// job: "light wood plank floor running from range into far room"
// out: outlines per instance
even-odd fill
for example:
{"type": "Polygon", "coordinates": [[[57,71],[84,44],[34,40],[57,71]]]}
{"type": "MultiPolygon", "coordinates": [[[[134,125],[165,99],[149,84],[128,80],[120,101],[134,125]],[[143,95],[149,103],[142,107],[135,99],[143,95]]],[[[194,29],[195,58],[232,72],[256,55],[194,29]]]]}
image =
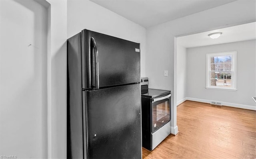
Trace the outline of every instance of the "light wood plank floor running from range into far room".
{"type": "Polygon", "coordinates": [[[179,133],[143,159],[256,159],[256,111],[186,101],[177,107],[179,133]]]}

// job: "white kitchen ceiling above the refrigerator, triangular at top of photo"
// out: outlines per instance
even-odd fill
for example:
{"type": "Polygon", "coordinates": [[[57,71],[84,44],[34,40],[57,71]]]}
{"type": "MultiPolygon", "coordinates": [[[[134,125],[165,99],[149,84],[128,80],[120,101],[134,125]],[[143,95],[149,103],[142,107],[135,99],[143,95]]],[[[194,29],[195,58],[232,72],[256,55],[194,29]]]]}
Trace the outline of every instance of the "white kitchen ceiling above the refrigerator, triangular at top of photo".
{"type": "Polygon", "coordinates": [[[145,28],[235,0],[90,0],[145,28]]]}

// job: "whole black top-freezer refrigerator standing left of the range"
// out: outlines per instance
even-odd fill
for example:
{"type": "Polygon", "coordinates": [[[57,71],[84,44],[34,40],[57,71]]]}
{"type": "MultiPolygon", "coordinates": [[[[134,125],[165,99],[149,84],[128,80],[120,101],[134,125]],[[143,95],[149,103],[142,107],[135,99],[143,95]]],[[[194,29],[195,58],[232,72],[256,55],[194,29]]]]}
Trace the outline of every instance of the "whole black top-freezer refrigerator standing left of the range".
{"type": "Polygon", "coordinates": [[[84,29],[67,45],[67,158],[142,158],[140,43],[84,29]]]}

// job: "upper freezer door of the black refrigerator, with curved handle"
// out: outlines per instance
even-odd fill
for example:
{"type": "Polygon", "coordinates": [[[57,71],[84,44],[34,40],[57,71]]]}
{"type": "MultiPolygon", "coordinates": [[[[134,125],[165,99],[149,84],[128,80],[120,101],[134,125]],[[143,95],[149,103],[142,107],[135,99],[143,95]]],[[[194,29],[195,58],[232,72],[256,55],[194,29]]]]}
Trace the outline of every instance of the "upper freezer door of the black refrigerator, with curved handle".
{"type": "Polygon", "coordinates": [[[82,86],[99,89],[140,82],[140,44],[84,29],[82,86]]]}

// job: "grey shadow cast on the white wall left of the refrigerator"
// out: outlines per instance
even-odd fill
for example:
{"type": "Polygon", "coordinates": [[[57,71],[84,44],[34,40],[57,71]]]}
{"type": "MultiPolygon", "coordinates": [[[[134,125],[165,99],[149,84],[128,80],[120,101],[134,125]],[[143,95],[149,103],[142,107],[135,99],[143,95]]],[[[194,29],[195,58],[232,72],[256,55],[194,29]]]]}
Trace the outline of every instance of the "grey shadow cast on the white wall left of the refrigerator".
{"type": "MultiPolygon", "coordinates": [[[[66,42],[56,51],[52,57],[52,132],[56,136],[52,138],[57,142],[63,143],[67,138],[67,47],[66,42]],[[54,119],[53,119],[54,118],[54,119]]],[[[54,135],[52,134],[52,135],[54,135]]],[[[66,152],[65,145],[54,145],[56,152],[66,152]]],[[[59,154],[63,155],[63,154],[59,154]]],[[[64,154],[66,155],[66,153],[64,154]]],[[[54,156],[52,156],[54,158],[54,156]]],[[[66,158],[65,156],[63,156],[66,158]]]]}

